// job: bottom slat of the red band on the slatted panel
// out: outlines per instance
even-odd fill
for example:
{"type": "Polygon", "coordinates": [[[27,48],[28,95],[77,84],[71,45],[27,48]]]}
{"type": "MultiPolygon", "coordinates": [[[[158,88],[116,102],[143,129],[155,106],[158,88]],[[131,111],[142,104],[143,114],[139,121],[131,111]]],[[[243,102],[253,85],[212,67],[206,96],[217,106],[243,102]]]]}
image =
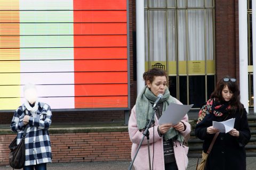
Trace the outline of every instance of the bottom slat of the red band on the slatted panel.
{"type": "Polygon", "coordinates": [[[128,107],[127,96],[75,97],[75,108],[128,107]]]}

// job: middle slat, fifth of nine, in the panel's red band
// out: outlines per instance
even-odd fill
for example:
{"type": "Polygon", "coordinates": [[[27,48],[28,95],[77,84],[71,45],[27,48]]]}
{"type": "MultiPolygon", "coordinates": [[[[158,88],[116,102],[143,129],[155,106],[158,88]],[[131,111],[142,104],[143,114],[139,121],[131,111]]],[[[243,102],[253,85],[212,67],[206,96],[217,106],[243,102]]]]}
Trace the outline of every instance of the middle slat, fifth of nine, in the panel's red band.
{"type": "Polygon", "coordinates": [[[75,59],[127,58],[127,47],[75,48],[75,59]]]}

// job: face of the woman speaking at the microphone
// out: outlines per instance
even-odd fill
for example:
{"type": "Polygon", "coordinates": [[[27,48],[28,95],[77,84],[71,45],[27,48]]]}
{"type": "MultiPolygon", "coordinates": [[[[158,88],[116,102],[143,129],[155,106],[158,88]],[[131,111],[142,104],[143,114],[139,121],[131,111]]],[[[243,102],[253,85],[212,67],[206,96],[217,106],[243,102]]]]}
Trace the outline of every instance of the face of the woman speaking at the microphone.
{"type": "Polygon", "coordinates": [[[147,81],[147,86],[148,88],[150,88],[155,96],[158,96],[159,94],[163,95],[167,86],[166,77],[155,76],[152,83],[150,83],[149,80],[147,81]]]}

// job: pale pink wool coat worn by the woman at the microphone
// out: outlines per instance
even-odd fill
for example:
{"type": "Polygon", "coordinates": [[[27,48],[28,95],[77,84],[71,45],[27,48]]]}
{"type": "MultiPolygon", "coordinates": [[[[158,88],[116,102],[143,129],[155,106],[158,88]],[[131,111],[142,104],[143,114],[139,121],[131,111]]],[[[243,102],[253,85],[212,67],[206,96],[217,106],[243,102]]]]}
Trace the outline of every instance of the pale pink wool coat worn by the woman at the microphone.
{"type": "MultiPolygon", "coordinates": [[[[179,100],[177,100],[178,104],[181,104],[179,100]]],[[[149,128],[149,147],[150,147],[150,160],[151,160],[151,168],[154,166],[155,170],[164,170],[164,149],[163,149],[163,138],[159,136],[157,132],[158,120],[155,116],[155,126],[149,128]],[[153,136],[155,137],[155,152],[154,152],[154,165],[153,164],[153,136]]],[[[188,123],[188,116],[186,115],[181,120],[186,126],[186,130],[181,132],[181,134],[185,137],[187,134],[190,133],[190,124],[188,123]]],[[[135,113],[135,106],[132,108],[131,116],[129,119],[128,124],[129,135],[132,141],[132,152],[131,158],[134,157],[136,154],[137,148],[139,143],[142,139],[142,132],[139,131],[137,128],[137,120],[136,120],[136,113],[135,113]]],[[[188,165],[188,147],[180,145],[179,142],[176,142],[176,146],[174,148],[174,156],[176,159],[176,163],[179,170],[184,170],[187,168],[188,165]]],[[[147,137],[144,138],[140,150],[138,152],[137,157],[134,160],[133,166],[137,170],[148,170],[149,163],[148,163],[148,145],[147,145],[147,137]]]]}

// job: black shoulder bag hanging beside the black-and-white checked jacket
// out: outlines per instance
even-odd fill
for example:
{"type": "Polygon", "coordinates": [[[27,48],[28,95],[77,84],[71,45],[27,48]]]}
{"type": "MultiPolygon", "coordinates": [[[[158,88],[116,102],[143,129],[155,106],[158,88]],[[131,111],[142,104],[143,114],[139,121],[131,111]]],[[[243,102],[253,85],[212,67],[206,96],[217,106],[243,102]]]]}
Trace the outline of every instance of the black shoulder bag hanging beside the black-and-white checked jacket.
{"type": "Polygon", "coordinates": [[[28,126],[26,125],[19,145],[17,145],[17,137],[9,145],[9,149],[11,150],[9,154],[9,163],[13,169],[21,169],[25,164],[25,137],[27,128],[28,126]]]}

